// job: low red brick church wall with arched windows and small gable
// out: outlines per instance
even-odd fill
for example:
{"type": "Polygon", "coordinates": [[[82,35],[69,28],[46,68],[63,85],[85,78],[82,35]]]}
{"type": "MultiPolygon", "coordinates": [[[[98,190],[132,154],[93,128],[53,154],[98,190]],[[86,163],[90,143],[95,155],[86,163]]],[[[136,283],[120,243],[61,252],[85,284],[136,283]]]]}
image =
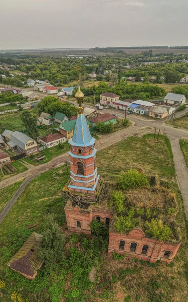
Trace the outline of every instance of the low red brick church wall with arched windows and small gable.
{"type": "Polygon", "coordinates": [[[153,238],[146,238],[140,228],[134,228],[128,235],[110,232],[108,253],[126,254],[129,257],[136,257],[137,259],[153,263],[157,260],[169,263],[173,260],[179,247],[180,244],[165,243],[153,238]],[[120,241],[125,243],[123,250],[121,250],[122,245],[120,247],[120,241]],[[137,244],[135,252],[130,251],[131,243],[137,244]],[[148,246],[146,254],[142,251],[143,246],[148,246]],[[167,251],[170,254],[168,257],[165,257],[164,253],[167,251]]]}

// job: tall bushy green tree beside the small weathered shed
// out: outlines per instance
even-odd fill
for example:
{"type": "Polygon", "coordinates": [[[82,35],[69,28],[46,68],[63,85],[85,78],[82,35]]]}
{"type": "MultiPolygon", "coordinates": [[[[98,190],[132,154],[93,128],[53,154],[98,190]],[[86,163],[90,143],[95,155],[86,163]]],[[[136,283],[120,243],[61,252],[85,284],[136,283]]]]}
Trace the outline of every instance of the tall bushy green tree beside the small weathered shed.
{"type": "Polygon", "coordinates": [[[42,250],[39,255],[45,260],[45,268],[50,273],[55,266],[55,262],[63,259],[65,245],[65,238],[53,215],[46,218],[42,235],[42,250]]]}

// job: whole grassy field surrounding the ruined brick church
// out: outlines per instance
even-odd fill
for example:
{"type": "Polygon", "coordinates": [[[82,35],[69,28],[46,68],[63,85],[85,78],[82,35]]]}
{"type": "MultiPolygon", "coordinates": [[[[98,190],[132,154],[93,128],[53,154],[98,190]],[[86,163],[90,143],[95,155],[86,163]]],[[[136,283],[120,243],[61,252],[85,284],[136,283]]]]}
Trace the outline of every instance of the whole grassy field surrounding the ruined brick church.
{"type": "MultiPolygon", "coordinates": [[[[88,273],[87,275],[82,275],[81,267],[75,273],[68,273],[69,267],[65,261],[56,264],[56,270],[51,274],[50,278],[44,274],[43,268],[38,272],[36,279],[32,281],[10,269],[7,270],[7,275],[5,276],[6,263],[32,232],[41,232],[44,218],[48,213],[55,215],[56,220],[61,226],[63,225],[63,232],[65,232],[66,220],[61,189],[67,182],[69,175],[66,174],[65,167],[60,167],[34,179],[0,225],[0,256],[2,256],[0,279],[6,282],[4,292],[2,295],[0,293],[0,300],[2,298],[3,302],[10,302],[11,293],[17,290],[21,292],[24,301],[28,299],[28,301],[32,302],[187,301],[188,252],[185,234],[185,214],[182,197],[174,181],[175,170],[167,137],[160,135],[159,142],[153,142],[152,135],[129,137],[110,148],[98,152],[97,158],[100,174],[103,176],[109,175],[111,180],[116,179],[119,171],[130,168],[141,168],[148,174],[156,173],[170,179],[170,186],[172,192],[176,194],[179,206],[177,219],[183,233],[182,244],[174,262],[169,265],[164,263],[151,264],[126,257],[115,261],[111,255],[103,253],[103,256],[98,260],[92,260],[97,267],[96,282],[88,287],[85,285],[84,297],[81,295],[83,292],[76,282],[78,282],[78,279],[85,280],[84,278],[86,278],[88,280],[88,273]],[[64,280],[64,283],[62,283],[62,280],[64,280]],[[98,288],[97,291],[96,287],[98,288]],[[77,288],[80,290],[80,295],[72,297],[73,292],[75,293],[77,288]],[[62,293],[63,298],[61,299],[62,293]],[[71,296],[70,293],[72,294],[71,296]],[[50,298],[47,298],[47,294],[50,298]]],[[[72,245],[75,247],[75,243],[72,243],[72,245]]],[[[84,241],[82,245],[84,245],[84,241]]],[[[68,247],[70,246],[71,243],[69,242],[68,247]]],[[[70,263],[71,268],[74,268],[75,263],[79,263],[79,257],[82,255],[84,255],[84,258],[81,258],[81,261],[88,257],[88,253],[91,257],[93,250],[89,252],[80,252],[79,250],[79,253],[78,258],[74,254],[74,258],[70,263]]],[[[91,263],[90,265],[92,266],[93,264],[91,263]]]]}

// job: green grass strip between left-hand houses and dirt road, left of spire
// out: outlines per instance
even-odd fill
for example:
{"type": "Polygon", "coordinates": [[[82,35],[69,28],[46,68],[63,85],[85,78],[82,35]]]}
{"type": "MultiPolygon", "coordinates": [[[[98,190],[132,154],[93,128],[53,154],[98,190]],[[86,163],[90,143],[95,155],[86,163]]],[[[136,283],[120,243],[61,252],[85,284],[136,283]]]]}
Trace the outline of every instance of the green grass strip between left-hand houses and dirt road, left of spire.
{"type": "MultiPolygon", "coordinates": [[[[38,165],[41,165],[41,164],[45,164],[45,163],[48,163],[50,162],[53,158],[57,157],[57,156],[60,156],[61,154],[63,153],[66,153],[69,151],[69,143],[66,141],[63,143],[63,148],[60,148],[59,145],[57,146],[54,146],[52,148],[48,148],[48,149],[44,149],[41,151],[40,154],[44,154],[45,158],[39,162],[37,162],[35,159],[30,159],[30,158],[27,158],[25,157],[23,160],[29,164],[32,164],[34,166],[38,166],[38,165]]],[[[38,156],[38,155],[36,155],[38,156]]],[[[35,157],[36,157],[35,156],[35,157]]]]}

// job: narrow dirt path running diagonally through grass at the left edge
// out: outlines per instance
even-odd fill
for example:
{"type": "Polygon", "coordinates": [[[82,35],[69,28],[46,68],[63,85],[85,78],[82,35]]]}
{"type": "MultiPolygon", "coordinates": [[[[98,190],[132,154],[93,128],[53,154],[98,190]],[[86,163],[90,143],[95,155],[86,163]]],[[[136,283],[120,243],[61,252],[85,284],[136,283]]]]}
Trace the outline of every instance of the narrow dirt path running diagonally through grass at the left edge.
{"type": "Polygon", "coordinates": [[[9,213],[10,209],[12,208],[12,206],[15,204],[15,202],[17,201],[17,199],[19,198],[19,196],[22,194],[22,192],[25,190],[25,188],[27,187],[27,185],[30,183],[30,181],[32,179],[34,179],[37,175],[33,174],[31,176],[28,176],[23,183],[21,184],[21,186],[18,188],[18,190],[15,192],[15,194],[13,195],[13,197],[9,200],[9,202],[6,204],[6,206],[4,207],[4,209],[1,211],[0,213],[0,223],[2,223],[3,219],[6,217],[6,215],[9,213]]]}

